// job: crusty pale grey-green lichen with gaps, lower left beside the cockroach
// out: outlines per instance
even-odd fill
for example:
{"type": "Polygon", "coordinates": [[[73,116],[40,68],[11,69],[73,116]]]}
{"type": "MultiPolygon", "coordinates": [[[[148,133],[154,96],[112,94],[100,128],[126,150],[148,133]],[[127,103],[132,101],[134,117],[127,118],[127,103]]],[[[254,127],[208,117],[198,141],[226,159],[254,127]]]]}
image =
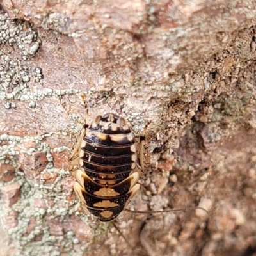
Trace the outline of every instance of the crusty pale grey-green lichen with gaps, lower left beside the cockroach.
{"type": "MultiPolygon", "coordinates": [[[[52,132],[51,134],[55,133],[56,132],[52,132]]],[[[15,179],[11,180],[10,182],[0,182],[0,188],[17,180],[19,180],[20,184],[22,185],[20,188],[20,200],[18,200],[16,204],[13,204],[9,209],[4,209],[1,216],[4,218],[4,216],[8,216],[10,212],[18,212],[17,226],[13,228],[9,227],[8,230],[6,229],[8,235],[13,238],[12,246],[17,249],[17,253],[14,255],[35,255],[35,253],[41,253],[43,255],[60,255],[58,247],[54,246],[54,244],[58,243],[58,241],[61,242],[64,252],[68,255],[75,255],[77,253],[74,249],[74,244],[78,244],[80,242],[74,235],[74,232],[70,230],[67,232],[67,234],[64,234],[61,237],[52,236],[44,218],[46,213],[50,214],[52,217],[60,216],[62,219],[65,219],[69,214],[74,213],[74,205],[77,203],[77,201],[68,201],[66,199],[68,193],[63,195],[63,189],[61,186],[61,180],[64,177],[67,177],[69,172],[63,169],[59,170],[52,168],[52,165],[49,166],[48,164],[45,170],[41,172],[41,175],[44,175],[46,172],[50,175],[58,173],[58,177],[54,183],[51,184],[51,186],[49,186],[49,184],[45,185],[43,179],[40,179],[39,184],[36,184],[35,182],[28,180],[28,178],[26,178],[24,175],[24,172],[20,172],[19,164],[16,162],[17,156],[20,152],[31,154],[31,152],[44,151],[47,153],[47,159],[49,163],[52,163],[52,150],[49,145],[43,141],[45,137],[51,136],[51,134],[44,134],[42,136],[34,137],[25,136],[24,138],[19,136],[10,136],[7,134],[1,134],[0,136],[0,143],[2,141],[8,141],[8,145],[3,145],[0,147],[1,163],[4,163],[6,161],[6,156],[8,156],[9,162],[13,164],[15,168],[17,168],[15,179]],[[28,142],[30,140],[36,141],[36,148],[27,149],[24,147],[23,142],[28,142]],[[20,150],[15,150],[17,147],[19,147],[20,150]],[[36,198],[44,198],[45,195],[52,198],[52,201],[54,202],[53,207],[49,207],[48,205],[49,208],[47,210],[34,207],[34,200],[36,198]],[[60,202],[61,205],[65,204],[66,207],[58,207],[60,202]],[[35,218],[36,227],[34,230],[29,232],[27,236],[24,236],[24,234],[26,234],[26,228],[29,225],[31,217],[35,218]],[[38,235],[42,236],[42,240],[35,242],[35,237],[38,235]]],[[[65,149],[68,148],[59,148],[60,152],[65,149]]],[[[72,191],[70,191],[69,195],[71,193],[72,191]]],[[[2,200],[0,200],[0,202],[1,201],[2,200]]],[[[1,204],[3,204],[3,202],[1,202],[1,204]]],[[[88,220],[86,223],[88,223],[88,220]]],[[[85,248],[86,247],[84,247],[84,249],[85,248]]]]}

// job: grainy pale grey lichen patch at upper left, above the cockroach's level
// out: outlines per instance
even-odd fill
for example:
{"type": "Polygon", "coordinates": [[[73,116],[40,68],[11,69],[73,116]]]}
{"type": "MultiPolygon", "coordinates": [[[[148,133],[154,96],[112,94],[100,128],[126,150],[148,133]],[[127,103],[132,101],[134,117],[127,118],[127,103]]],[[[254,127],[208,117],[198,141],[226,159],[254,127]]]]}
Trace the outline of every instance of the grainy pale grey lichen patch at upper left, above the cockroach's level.
{"type": "Polygon", "coordinates": [[[44,76],[42,68],[31,68],[24,60],[36,54],[41,44],[40,39],[28,22],[11,20],[7,13],[0,12],[0,45],[3,44],[17,45],[22,50],[21,59],[0,51],[0,99],[4,108],[15,108],[15,105],[8,100],[28,101],[29,107],[35,108],[35,102],[47,97],[81,93],[76,89],[52,90],[52,88],[34,89],[32,92],[29,88],[31,79],[42,84],[44,76]]]}

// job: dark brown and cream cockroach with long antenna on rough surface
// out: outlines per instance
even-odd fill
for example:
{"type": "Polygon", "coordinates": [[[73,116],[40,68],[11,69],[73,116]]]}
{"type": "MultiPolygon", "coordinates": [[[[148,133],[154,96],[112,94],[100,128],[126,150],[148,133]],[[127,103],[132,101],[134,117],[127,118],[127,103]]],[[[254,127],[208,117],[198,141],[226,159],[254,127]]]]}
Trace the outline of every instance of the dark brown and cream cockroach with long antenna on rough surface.
{"type": "MultiPolygon", "coordinates": [[[[79,166],[74,191],[77,198],[100,221],[111,221],[126,209],[140,189],[138,180],[143,170],[143,143],[140,147],[140,166],[136,155],[134,134],[121,116],[108,113],[84,125],[69,163],[79,166]]],[[[172,209],[170,212],[186,209],[172,209]]],[[[203,209],[206,211],[205,209],[203,209]]]]}

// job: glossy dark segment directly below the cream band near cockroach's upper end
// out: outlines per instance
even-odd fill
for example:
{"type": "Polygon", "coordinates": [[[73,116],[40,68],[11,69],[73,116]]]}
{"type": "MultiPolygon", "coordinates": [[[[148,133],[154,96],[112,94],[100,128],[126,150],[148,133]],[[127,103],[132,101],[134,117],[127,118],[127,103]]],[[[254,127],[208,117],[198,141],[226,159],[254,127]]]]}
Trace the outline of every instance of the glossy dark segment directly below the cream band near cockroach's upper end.
{"type": "Polygon", "coordinates": [[[119,147],[108,147],[106,145],[91,145],[86,143],[85,147],[81,148],[84,152],[92,152],[101,156],[126,156],[131,155],[131,145],[120,145],[119,147]]]}

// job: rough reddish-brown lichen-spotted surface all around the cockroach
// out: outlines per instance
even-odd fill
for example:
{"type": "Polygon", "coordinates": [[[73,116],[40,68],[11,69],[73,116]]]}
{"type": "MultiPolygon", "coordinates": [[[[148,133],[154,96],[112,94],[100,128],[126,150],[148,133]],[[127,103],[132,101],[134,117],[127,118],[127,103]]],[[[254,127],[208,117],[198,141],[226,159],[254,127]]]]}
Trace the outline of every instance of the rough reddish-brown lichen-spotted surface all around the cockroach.
{"type": "Polygon", "coordinates": [[[0,3],[0,255],[256,253],[255,1],[0,3]],[[124,212],[127,244],[77,207],[81,93],[147,127],[129,208],[209,214],[124,212]]]}

